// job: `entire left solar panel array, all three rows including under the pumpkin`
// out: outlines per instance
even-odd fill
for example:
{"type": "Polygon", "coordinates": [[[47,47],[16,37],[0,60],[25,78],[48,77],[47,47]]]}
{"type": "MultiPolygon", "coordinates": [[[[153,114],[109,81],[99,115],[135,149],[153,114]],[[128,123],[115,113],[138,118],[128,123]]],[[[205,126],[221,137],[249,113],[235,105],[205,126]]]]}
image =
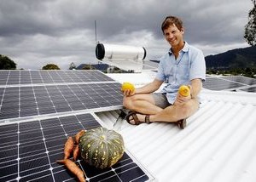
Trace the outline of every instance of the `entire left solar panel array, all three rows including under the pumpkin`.
{"type": "MultiPolygon", "coordinates": [[[[101,126],[91,113],[122,108],[120,83],[101,71],[0,71],[0,181],[75,181],[63,158],[68,136],[101,126]]],[[[79,160],[88,181],[147,181],[125,152],[99,170],[79,160]]]]}

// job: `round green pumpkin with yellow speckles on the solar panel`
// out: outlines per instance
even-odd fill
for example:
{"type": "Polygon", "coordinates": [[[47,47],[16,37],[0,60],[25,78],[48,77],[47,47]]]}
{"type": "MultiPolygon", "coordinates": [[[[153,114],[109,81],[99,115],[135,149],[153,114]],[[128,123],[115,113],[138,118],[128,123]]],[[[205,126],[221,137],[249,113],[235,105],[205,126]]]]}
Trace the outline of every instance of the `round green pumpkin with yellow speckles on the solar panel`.
{"type": "Polygon", "coordinates": [[[79,139],[79,150],[85,162],[96,168],[110,168],[125,152],[123,137],[107,128],[86,131],[79,139]]]}

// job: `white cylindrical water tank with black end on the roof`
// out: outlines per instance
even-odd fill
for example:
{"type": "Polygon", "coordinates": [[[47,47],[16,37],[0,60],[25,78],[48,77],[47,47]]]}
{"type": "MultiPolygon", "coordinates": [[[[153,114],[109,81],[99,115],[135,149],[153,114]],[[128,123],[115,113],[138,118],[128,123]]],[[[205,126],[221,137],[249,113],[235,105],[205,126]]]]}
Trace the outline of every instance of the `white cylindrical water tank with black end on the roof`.
{"type": "Polygon", "coordinates": [[[125,59],[125,60],[144,60],[146,49],[143,47],[133,47],[126,45],[113,45],[97,43],[96,58],[103,59],[125,59]]]}

